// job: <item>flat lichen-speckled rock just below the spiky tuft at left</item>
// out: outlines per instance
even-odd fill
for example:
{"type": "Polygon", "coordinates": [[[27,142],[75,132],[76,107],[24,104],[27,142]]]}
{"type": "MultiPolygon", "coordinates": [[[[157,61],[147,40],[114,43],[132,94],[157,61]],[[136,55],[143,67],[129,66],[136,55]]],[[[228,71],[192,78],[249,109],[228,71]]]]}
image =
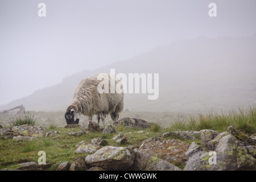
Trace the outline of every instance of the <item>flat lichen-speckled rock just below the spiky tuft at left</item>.
{"type": "Polygon", "coordinates": [[[22,134],[24,136],[29,137],[44,137],[46,133],[44,132],[44,129],[42,126],[36,126],[36,125],[21,125],[21,126],[14,126],[13,131],[22,134]]]}

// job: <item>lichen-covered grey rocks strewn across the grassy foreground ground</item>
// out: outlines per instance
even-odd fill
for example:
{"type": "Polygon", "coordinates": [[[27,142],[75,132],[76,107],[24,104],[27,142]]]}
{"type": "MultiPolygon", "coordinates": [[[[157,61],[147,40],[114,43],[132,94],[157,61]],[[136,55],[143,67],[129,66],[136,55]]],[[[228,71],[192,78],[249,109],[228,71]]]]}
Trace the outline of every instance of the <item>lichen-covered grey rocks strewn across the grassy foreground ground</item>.
{"type": "MultiPolygon", "coordinates": [[[[108,145],[104,137],[81,140],[76,144],[75,153],[84,156],[73,162],[60,162],[57,171],[135,170],[135,171],[217,171],[256,170],[256,137],[248,136],[229,126],[225,132],[213,130],[170,131],[160,137],[150,137],[140,146],[125,146],[130,135],[143,134],[152,123],[143,119],[123,118],[104,128],[94,122],[82,125],[67,125],[66,128],[80,128],[68,132],[67,136],[88,133],[113,134],[117,146],[108,145]],[[134,133],[118,132],[118,127],[139,128],[134,133]],[[187,142],[191,141],[191,142],[187,142]]],[[[1,140],[35,140],[58,135],[58,131],[44,131],[41,126],[22,125],[12,128],[0,127],[1,140]]],[[[103,136],[103,135],[102,135],[103,136]]],[[[68,147],[68,146],[67,146],[68,147]]],[[[4,150],[4,148],[2,149],[4,150]]],[[[52,164],[37,162],[20,163],[15,169],[1,170],[47,170],[52,164]]]]}

